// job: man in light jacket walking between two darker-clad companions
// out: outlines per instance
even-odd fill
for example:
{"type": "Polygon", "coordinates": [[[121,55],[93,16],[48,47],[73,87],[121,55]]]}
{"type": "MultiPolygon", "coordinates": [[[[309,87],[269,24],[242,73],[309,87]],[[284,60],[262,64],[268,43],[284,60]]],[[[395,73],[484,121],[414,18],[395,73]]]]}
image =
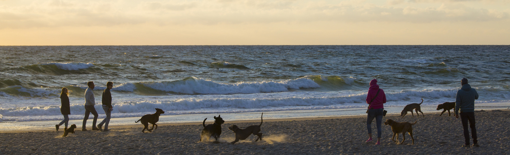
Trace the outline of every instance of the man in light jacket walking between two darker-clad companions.
{"type": "Polygon", "coordinates": [[[87,83],[89,88],[85,90],[85,118],[83,118],[83,126],[82,131],[87,131],[85,128],[85,124],[87,124],[87,119],[89,119],[89,114],[92,113],[94,115],[94,121],[92,122],[92,130],[99,130],[96,127],[97,122],[97,112],[95,111],[94,105],[95,105],[95,98],[94,98],[94,92],[92,90],[94,89],[94,82],[89,81],[87,83]]]}

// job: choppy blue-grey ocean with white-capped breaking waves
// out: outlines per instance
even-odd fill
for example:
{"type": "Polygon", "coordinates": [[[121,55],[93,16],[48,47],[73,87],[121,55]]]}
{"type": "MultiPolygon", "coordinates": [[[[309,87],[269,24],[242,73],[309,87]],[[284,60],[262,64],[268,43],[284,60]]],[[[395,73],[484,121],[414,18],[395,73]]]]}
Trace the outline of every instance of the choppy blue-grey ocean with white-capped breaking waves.
{"type": "MultiPolygon", "coordinates": [[[[510,101],[508,45],[0,46],[0,121],[83,119],[112,89],[113,118],[349,110],[367,107],[372,79],[385,107],[455,101],[466,77],[476,104],[510,101]]],[[[103,115],[101,115],[103,114],[103,115]]],[[[91,120],[89,120],[91,121],[91,120]]]]}

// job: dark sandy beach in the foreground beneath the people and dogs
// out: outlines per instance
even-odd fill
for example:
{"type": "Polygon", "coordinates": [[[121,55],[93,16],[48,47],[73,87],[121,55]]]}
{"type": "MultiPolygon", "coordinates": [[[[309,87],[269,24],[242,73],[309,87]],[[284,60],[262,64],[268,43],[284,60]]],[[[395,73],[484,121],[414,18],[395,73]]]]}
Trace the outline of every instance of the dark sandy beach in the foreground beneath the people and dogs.
{"type": "MultiPolygon", "coordinates": [[[[353,116],[266,120],[263,141],[255,142],[252,135],[234,145],[229,143],[234,133],[228,126],[244,128],[260,120],[225,120],[218,142],[198,142],[201,123],[160,124],[152,133],[141,133],[141,124],[111,126],[110,132],[77,130],[67,137],[61,137],[63,128],[60,132],[17,131],[0,134],[0,154],[510,154],[510,111],[476,111],[475,117],[480,147],[471,148],[461,147],[460,119],[429,113],[418,118],[383,118],[383,122],[417,120],[414,145],[409,135],[396,145],[391,141],[391,127],[384,124],[381,145],[365,143],[366,116],[353,116]]],[[[375,121],[372,130],[376,135],[375,121]]]]}

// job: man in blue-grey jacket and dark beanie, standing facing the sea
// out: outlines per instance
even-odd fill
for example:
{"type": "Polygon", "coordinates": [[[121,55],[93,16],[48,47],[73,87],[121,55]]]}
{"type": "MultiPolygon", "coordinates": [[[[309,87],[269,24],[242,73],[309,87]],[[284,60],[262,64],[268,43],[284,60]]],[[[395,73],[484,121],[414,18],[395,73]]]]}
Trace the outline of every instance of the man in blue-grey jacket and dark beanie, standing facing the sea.
{"type": "Polygon", "coordinates": [[[457,91],[457,97],[455,98],[455,117],[458,118],[458,110],[461,110],[462,126],[464,127],[464,138],[466,144],[464,147],[469,147],[469,127],[471,127],[471,136],[473,137],[473,146],[478,145],[476,140],[476,126],[475,126],[475,99],[478,99],[478,93],[471,85],[468,84],[468,79],[463,78],[461,80],[462,87],[457,91]]]}

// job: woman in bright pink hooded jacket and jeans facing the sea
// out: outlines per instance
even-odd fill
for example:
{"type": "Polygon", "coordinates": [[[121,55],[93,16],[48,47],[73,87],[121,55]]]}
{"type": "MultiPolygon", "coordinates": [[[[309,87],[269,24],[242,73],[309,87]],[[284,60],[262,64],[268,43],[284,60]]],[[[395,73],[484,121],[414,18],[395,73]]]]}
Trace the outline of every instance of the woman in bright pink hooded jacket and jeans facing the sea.
{"type": "Polygon", "coordinates": [[[376,121],[377,124],[377,143],[380,144],[381,139],[381,122],[382,122],[382,111],[384,110],[383,104],[386,103],[386,95],[384,94],[384,90],[379,89],[379,85],[377,85],[377,80],[370,81],[370,88],[368,89],[367,94],[367,104],[368,106],[368,116],[367,116],[367,130],[368,130],[368,140],[367,142],[372,141],[372,120],[376,121]]]}

